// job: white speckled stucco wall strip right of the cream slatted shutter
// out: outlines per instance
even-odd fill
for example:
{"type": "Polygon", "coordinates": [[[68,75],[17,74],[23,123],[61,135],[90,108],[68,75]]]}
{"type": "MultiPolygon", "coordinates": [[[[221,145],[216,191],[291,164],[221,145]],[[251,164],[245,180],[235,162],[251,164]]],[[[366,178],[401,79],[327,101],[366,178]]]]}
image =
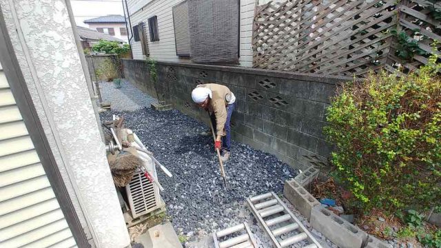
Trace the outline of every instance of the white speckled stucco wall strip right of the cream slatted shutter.
{"type": "Polygon", "coordinates": [[[0,0],[21,71],[88,238],[130,239],[101,142],[65,1],[0,0]]]}

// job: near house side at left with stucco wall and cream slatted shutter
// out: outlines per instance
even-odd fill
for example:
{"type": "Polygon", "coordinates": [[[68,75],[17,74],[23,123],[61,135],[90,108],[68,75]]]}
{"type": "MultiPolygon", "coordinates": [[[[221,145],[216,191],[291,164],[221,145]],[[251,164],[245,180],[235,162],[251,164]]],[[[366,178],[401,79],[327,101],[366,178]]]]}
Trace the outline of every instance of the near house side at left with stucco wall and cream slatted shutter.
{"type": "Polygon", "coordinates": [[[0,247],[130,247],[69,1],[0,0],[0,247]]]}

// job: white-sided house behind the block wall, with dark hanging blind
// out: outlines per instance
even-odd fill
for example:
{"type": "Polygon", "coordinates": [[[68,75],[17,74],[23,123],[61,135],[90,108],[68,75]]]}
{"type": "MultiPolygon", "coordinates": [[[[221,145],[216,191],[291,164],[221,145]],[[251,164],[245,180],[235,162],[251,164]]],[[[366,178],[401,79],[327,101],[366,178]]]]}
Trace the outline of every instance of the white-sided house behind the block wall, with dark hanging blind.
{"type": "MultiPolygon", "coordinates": [[[[252,67],[254,6],[255,0],[217,2],[214,0],[127,0],[128,14],[126,12],[126,15],[130,16],[130,23],[132,24],[129,32],[133,32],[133,38],[130,41],[133,57],[134,59],[145,59],[150,56],[158,61],[195,62],[194,56],[198,56],[198,61],[210,63],[209,59],[213,58],[214,60],[220,59],[219,62],[222,62],[221,52],[230,50],[229,52],[236,52],[238,63],[241,66],[252,67]],[[189,8],[189,1],[197,2],[202,7],[200,10],[189,8]],[[208,47],[200,46],[207,34],[214,34],[219,28],[224,28],[221,25],[222,23],[216,23],[214,18],[215,23],[211,25],[209,21],[213,20],[207,19],[207,17],[210,17],[209,12],[207,14],[203,12],[213,10],[210,6],[214,6],[214,4],[218,4],[217,7],[222,9],[224,8],[223,5],[228,5],[225,3],[230,5],[230,7],[225,8],[230,9],[218,11],[217,14],[230,14],[226,15],[221,21],[226,23],[225,28],[231,32],[227,35],[214,37],[213,43],[216,43],[216,45],[213,45],[212,48],[209,47],[209,43],[208,47]],[[237,7],[234,8],[233,6],[232,8],[232,3],[236,3],[237,7]],[[228,23],[229,19],[232,19],[235,23],[228,23]],[[192,29],[190,23],[194,23],[196,26],[192,29]],[[194,32],[194,30],[206,28],[203,25],[204,23],[209,23],[212,27],[217,24],[217,28],[216,30],[207,29],[206,32],[194,32]],[[210,54],[215,50],[220,51],[215,54],[216,56],[204,61],[203,54],[210,54]],[[201,54],[192,54],[195,52],[201,54]]],[[[209,38],[212,39],[212,37],[209,38]]]]}

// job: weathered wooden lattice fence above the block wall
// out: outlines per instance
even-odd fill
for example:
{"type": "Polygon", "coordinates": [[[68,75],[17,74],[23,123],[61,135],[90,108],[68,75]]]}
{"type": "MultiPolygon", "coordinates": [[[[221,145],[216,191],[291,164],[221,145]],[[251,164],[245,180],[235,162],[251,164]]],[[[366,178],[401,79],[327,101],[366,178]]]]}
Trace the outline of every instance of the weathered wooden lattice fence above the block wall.
{"type": "Polygon", "coordinates": [[[440,28],[413,1],[269,1],[256,6],[253,65],[346,76],[380,68],[407,72],[427,63],[440,28]]]}

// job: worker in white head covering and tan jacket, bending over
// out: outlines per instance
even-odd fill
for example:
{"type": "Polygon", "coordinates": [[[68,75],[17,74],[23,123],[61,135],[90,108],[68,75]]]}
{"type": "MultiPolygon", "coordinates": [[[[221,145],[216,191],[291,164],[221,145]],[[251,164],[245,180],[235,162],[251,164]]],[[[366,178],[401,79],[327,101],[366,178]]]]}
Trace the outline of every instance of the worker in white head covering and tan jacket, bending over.
{"type": "Polygon", "coordinates": [[[231,126],[236,97],[227,86],[217,83],[197,85],[192,91],[192,99],[198,107],[209,112],[210,121],[216,132],[214,149],[220,150],[220,158],[223,162],[229,159],[231,154],[231,126]]]}

